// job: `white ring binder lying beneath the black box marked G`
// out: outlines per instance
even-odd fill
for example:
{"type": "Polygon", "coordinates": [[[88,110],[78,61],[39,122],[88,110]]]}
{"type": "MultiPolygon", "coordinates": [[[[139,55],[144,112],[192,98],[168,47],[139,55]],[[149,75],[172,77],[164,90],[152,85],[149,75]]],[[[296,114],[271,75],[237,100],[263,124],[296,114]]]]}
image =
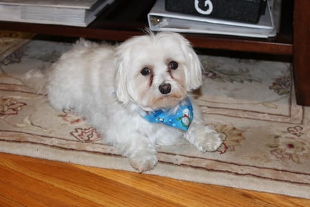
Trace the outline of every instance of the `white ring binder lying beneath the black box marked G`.
{"type": "Polygon", "coordinates": [[[267,8],[258,23],[242,23],[209,17],[179,14],[165,10],[165,0],[157,0],[147,15],[149,28],[154,31],[189,32],[203,34],[227,34],[243,37],[274,37],[272,9],[267,1],[267,8]]]}

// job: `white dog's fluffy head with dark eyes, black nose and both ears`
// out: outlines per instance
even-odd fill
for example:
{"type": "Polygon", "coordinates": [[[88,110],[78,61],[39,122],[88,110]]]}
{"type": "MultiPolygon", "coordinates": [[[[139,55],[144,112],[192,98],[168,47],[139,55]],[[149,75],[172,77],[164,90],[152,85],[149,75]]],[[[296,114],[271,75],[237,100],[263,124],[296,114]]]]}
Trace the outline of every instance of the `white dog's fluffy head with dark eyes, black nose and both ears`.
{"type": "Polygon", "coordinates": [[[143,110],[171,108],[201,85],[200,61],[180,34],[134,37],[116,52],[116,95],[143,110]]]}

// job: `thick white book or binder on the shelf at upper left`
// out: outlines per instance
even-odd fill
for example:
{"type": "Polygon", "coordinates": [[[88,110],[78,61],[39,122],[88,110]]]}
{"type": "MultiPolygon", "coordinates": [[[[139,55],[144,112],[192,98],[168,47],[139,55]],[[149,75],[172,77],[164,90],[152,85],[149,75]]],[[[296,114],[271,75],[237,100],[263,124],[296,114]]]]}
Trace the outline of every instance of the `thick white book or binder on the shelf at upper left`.
{"type": "Polygon", "coordinates": [[[114,0],[0,0],[0,21],[89,25],[114,0]]]}

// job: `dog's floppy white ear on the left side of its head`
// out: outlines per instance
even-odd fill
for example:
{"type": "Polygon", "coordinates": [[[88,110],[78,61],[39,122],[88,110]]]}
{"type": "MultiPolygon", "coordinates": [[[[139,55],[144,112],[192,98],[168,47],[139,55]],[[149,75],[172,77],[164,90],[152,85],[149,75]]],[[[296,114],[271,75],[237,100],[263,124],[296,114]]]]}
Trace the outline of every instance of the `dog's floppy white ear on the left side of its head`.
{"type": "Polygon", "coordinates": [[[115,75],[115,92],[118,101],[123,103],[128,103],[130,101],[130,95],[127,90],[127,70],[125,70],[125,59],[120,52],[116,52],[115,65],[116,65],[116,75],[115,75]]]}

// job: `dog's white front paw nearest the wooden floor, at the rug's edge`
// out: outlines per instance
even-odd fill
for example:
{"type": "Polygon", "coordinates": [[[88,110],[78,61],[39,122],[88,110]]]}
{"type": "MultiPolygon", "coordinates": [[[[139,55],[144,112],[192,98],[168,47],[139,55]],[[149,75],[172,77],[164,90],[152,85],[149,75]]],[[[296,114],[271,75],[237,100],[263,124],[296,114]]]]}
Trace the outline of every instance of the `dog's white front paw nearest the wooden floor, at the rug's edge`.
{"type": "Polygon", "coordinates": [[[157,164],[156,155],[134,155],[130,157],[130,164],[138,172],[144,172],[147,170],[152,170],[157,164]]]}

